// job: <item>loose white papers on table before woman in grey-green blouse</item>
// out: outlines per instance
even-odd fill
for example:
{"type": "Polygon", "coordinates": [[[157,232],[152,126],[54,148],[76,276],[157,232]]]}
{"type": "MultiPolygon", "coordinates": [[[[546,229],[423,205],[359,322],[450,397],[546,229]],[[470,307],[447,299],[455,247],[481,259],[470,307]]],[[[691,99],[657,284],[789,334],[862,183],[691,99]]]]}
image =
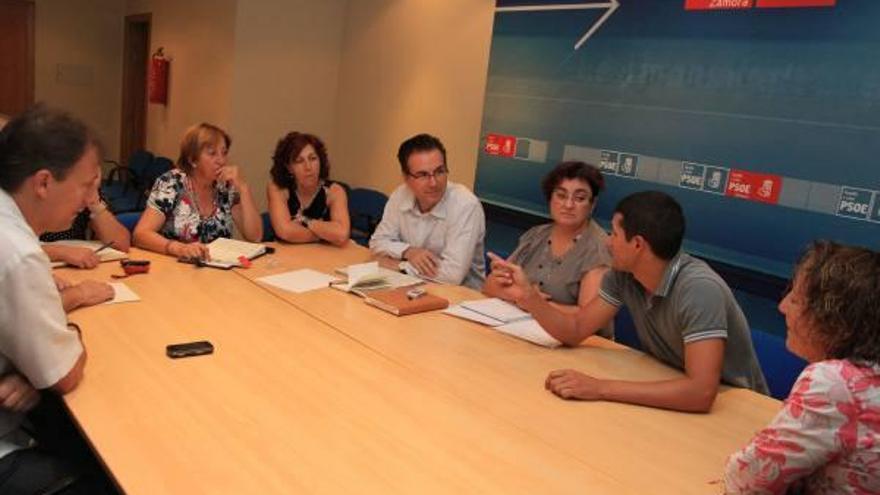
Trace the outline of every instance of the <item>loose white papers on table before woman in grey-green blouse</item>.
{"type": "Polygon", "coordinates": [[[490,326],[499,332],[544,347],[559,347],[561,342],[547,333],[532,315],[501,299],[492,297],[463,301],[444,313],[490,326]]]}

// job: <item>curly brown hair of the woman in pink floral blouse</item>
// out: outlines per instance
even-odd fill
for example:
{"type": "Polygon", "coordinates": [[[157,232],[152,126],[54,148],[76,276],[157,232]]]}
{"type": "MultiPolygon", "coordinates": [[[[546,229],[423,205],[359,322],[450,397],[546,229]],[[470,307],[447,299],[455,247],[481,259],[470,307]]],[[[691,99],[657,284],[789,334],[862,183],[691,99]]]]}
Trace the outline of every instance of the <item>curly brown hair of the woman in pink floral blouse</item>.
{"type": "Polygon", "coordinates": [[[814,242],[795,267],[805,316],[829,359],[880,363],[880,253],[814,242]]]}

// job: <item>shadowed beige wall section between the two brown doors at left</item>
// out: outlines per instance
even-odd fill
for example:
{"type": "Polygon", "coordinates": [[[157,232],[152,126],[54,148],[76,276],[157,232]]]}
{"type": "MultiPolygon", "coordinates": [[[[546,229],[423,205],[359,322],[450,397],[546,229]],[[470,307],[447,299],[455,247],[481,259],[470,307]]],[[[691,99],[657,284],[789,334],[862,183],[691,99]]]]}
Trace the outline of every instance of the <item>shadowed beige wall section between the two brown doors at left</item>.
{"type": "Polygon", "coordinates": [[[82,118],[118,159],[123,0],[37,0],[34,98],[82,118]]]}

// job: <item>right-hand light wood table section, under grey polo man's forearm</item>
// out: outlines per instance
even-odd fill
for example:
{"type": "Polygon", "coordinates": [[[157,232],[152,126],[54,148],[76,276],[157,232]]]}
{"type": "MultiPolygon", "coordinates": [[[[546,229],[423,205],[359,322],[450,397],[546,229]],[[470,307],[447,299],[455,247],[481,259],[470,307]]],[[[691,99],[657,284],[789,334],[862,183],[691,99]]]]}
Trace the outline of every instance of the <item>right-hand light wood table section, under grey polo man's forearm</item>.
{"type": "MultiPolygon", "coordinates": [[[[305,267],[330,273],[369,256],[354,243],[341,249],[282,245],[276,254],[237,273],[249,279],[305,267]]],[[[545,349],[440,312],[395,317],[335,289],[294,294],[259,285],[426,383],[450,391],[638,493],[718,493],[713,482],[727,456],[745,445],[780,408],[772,398],[730,387],[722,387],[711,413],[704,415],[564,401],[544,390],[550,370],[574,368],[597,377],[646,381],[680,372],[599,337],[577,348],[545,349]]],[[[429,284],[428,291],[451,302],[483,297],[458,286],[429,284]]]]}

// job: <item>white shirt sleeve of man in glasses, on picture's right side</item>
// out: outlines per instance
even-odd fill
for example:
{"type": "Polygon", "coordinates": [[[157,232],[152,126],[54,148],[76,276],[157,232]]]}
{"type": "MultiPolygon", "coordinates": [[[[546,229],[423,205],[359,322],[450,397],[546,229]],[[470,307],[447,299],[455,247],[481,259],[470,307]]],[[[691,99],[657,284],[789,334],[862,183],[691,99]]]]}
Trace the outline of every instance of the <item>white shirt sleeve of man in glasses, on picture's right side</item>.
{"type": "Polygon", "coordinates": [[[436,279],[448,284],[461,284],[471,269],[474,250],[486,233],[486,217],[479,201],[455,208],[447,219],[450,228],[440,253],[440,269],[436,279]]]}

